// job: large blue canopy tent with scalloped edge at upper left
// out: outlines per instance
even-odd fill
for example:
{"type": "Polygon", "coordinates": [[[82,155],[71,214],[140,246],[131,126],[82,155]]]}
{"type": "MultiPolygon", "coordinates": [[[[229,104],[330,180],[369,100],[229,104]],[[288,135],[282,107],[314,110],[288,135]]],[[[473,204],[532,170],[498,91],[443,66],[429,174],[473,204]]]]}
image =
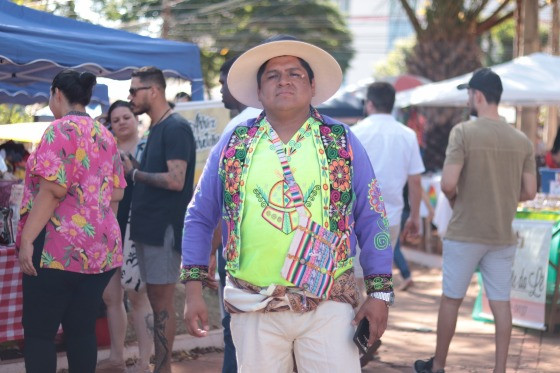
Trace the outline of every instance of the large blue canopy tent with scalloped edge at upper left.
{"type": "Polygon", "coordinates": [[[198,46],[114,30],[0,0],[0,82],[50,83],[62,69],[116,80],[156,66],[167,77],[189,80],[193,100],[203,99],[198,46]]]}

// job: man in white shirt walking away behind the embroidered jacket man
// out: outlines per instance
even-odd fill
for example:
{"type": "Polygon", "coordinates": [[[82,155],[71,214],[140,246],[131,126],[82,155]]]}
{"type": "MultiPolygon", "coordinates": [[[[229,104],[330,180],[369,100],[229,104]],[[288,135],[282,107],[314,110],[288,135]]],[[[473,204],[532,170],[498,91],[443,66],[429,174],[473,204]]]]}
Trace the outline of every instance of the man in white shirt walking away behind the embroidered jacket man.
{"type": "Polygon", "coordinates": [[[420,174],[425,169],[416,134],[410,128],[397,122],[391,115],[394,103],[395,89],[391,84],[372,83],[368,87],[365,103],[368,116],[351,128],[364,145],[383,191],[383,201],[389,219],[391,246],[395,250],[395,262],[405,277],[403,286],[401,286],[401,289],[404,289],[411,283],[410,272],[406,267],[406,261],[396,247],[404,207],[403,188],[408,182],[410,216],[406,220],[402,232],[403,237],[406,237],[407,235],[417,235],[419,231],[420,201],[422,199],[420,174]]]}

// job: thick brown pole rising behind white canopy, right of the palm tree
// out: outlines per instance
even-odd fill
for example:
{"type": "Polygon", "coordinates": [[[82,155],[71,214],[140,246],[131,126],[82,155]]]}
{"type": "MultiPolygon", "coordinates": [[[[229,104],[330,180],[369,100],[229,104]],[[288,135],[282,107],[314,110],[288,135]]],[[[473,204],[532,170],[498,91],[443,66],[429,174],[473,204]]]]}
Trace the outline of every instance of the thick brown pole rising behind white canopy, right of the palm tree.
{"type": "MultiPolygon", "coordinates": [[[[540,49],[539,41],[539,2],[538,0],[524,0],[517,2],[521,6],[521,34],[519,43],[519,55],[526,56],[538,52],[540,49]],[[521,3],[521,4],[520,4],[521,3]]],[[[517,128],[527,137],[537,144],[537,119],[538,107],[524,107],[517,110],[517,128]]]]}

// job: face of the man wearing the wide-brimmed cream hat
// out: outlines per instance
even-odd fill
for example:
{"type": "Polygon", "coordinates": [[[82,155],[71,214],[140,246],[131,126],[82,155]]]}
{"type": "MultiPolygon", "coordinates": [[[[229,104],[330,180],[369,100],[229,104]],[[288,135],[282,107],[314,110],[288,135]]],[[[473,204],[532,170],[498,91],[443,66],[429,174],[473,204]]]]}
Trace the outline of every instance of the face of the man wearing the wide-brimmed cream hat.
{"type": "Polygon", "coordinates": [[[270,59],[260,84],[259,101],[269,113],[298,108],[307,110],[315,96],[315,80],[309,82],[307,71],[294,56],[270,59]]]}

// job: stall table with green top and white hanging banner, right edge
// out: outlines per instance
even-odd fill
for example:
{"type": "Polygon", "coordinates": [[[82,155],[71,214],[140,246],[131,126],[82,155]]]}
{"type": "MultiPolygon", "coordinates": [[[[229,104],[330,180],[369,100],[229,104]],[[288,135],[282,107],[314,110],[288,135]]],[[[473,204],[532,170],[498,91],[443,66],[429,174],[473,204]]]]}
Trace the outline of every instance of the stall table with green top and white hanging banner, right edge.
{"type": "MultiPolygon", "coordinates": [[[[513,324],[556,332],[560,322],[560,197],[538,194],[520,204],[513,227],[518,236],[512,273],[513,324]]],[[[480,276],[479,284],[473,317],[491,320],[480,276]]]]}

